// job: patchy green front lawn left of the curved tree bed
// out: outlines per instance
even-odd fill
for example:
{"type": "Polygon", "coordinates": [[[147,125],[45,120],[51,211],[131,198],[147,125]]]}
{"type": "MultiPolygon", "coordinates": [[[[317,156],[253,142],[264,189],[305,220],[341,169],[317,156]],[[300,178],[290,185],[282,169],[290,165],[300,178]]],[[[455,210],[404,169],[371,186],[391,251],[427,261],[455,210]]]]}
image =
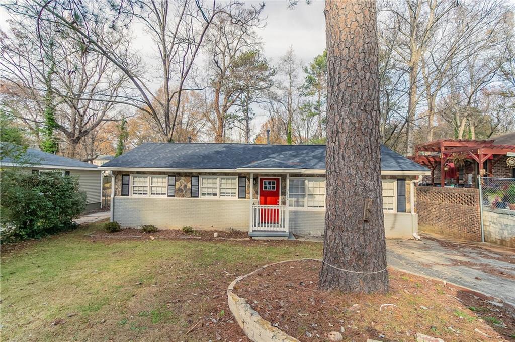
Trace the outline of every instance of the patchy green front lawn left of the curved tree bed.
{"type": "Polygon", "coordinates": [[[322,249],[85,236],[99,225],[3,251],[3,341],[237,341],[244,335],[227,306],[228,284],[268,262],[320,257],[322,249]]]}

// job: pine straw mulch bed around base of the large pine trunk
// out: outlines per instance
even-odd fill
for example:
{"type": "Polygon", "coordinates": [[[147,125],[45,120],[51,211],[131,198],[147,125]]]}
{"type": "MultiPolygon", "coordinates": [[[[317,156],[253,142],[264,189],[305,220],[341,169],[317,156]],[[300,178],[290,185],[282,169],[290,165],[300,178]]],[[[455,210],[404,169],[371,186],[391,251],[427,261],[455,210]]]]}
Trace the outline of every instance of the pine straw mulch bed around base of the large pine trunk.
{"type": "Polygon", "coordinates": [[[445,342],[515,340],[513,316],[454,286],[389,268],[389,294],[349,295],[318,290],[319,270],[311,260],[271,265],[234,293],[301,341],[327,341],[340,329],[344,341],[413,341],[417,333],[445,342]]]}

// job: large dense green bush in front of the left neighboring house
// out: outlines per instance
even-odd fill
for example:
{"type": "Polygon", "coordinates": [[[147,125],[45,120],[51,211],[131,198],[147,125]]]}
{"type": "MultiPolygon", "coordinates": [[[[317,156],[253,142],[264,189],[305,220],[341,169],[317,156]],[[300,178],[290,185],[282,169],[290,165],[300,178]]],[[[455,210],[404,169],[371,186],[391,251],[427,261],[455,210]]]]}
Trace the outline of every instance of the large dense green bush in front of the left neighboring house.
{"type": "Polygon", "coordinates": [[[2,242],[39,239],[72,229],[85,209],[86,195],[78,178],[61,172],[0,171],[2,242]]]}

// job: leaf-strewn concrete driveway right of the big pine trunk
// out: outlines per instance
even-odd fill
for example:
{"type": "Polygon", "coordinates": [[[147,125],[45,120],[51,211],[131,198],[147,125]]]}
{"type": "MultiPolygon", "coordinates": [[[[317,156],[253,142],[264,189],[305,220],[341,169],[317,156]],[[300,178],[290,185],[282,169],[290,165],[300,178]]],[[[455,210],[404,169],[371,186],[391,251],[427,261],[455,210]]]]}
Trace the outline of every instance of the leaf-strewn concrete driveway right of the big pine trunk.
{"type": "Polygon", "coordinates": [[[515,250],[423,235],[387,240],[388,265],[440,278],[515,303],[515,250]]]}

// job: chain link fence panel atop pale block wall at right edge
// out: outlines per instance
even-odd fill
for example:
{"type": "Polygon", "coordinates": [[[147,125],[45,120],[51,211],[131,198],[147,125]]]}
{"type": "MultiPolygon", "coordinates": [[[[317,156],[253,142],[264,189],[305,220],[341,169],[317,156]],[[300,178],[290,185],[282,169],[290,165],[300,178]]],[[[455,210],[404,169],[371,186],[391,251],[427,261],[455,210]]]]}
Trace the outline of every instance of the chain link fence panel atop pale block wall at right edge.
{"type": "Polygon", "coordinates": [[[515,178],[480,177],[483,209],[515,211],[515,178]]]}

